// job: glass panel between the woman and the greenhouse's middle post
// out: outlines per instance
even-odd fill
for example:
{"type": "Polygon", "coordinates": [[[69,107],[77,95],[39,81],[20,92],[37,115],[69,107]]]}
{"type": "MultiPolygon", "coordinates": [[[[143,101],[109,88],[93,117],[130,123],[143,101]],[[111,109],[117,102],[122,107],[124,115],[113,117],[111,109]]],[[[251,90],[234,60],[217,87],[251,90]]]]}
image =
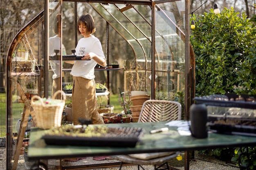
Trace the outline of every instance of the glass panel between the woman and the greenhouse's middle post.
{"type": "MultiPolygon", "coordinates": [[[[136,8],[144,8],[143,13],[147,16],[145,18],[150,21],[150,7],[136,5],[135,9],[130,8],[121,13],[118,9],[126,7],[124,4],[110,4],[103,7],[99,4],[92,4],[92,6],[97,9],[97,11],[106,18],[113,29],[119,32],[128,42],[128,44],[126,42],[122,44],[115,43],[118,45],[117,47],[119,49],[125,49],[125,52],[120,51],[120,57],[124,56],[124,53],[128,54],[126,58],[123,58],[125,68],[124,90],[147,89],[147,91],[149,91],[150,79],[148,77],[150,74],[148,74],[146,69],[151,70],[151,62],[149,61],[147,63],[145,61],[146,58],[150,58],[151,55],[151,26],[150,23],[144,19],[143,14],[140,15],[136,8]]],[[[112,37],[112,35],[110,36],[112,37]]],[[[112,48],[109,47],[109,49],[111,53],[112,48]]]]}

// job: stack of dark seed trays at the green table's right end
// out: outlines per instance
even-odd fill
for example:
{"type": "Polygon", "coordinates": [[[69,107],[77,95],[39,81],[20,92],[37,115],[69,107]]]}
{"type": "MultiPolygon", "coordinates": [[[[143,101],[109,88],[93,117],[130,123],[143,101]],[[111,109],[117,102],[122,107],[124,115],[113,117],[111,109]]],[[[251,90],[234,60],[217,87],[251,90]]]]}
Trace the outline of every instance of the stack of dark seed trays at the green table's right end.
{"type": "Polygon", "coordinates": [[[256,98],[234,94],[195,97],[207,105],[209,128],[218,133],[256,136],[256,98]]]}

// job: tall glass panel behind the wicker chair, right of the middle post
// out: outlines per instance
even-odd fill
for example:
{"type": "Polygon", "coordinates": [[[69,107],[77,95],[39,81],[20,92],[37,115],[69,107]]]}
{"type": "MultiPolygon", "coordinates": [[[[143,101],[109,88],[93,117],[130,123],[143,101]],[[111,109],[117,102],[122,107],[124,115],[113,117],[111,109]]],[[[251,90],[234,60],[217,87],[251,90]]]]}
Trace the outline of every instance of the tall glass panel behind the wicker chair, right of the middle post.
{"type": "Polygon", "coordinates": [[[159,4],[156,10],[157,99],[177,100],[177,92],[184,93],[184,5],[179,4],[180,1],[159,4]]]}

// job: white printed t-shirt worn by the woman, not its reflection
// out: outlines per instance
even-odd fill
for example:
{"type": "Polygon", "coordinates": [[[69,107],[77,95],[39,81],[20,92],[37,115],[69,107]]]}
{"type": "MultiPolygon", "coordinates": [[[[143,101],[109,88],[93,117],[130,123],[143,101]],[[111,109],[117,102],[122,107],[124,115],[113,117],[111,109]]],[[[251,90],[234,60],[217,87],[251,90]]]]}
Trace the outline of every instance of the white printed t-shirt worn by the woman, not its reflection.
{"type": "MultiPolygon", "coordinates": [[[[94,35],[81,38],[76,46],[76,55],[85,55],[88,52],[93,52],[99,57],[106,59],[102,50],[101,42],[94,35]]],[[[94,68],[97,62],[94,59],[91,60],[76,60],[72,67],[70,74],[76,77],[83,77],[92,80],[94,76],[94,68]]]]}

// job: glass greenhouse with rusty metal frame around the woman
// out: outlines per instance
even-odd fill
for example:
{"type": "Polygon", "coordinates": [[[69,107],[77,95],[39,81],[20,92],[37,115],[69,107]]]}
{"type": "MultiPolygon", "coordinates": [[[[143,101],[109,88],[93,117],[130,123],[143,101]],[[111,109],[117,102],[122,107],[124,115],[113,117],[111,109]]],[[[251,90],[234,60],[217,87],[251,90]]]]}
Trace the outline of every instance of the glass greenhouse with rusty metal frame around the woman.
{"type": "MultiPolygon", "coordinates": [[[[81,59],[74,51],[81,39],[77,21],[86,13],[94,18],[94,35],[107,61],[105,68],[95,67],[95,81],[106,85],[109,100],[119,92],[146,91],[151,99],[182,103],[182,118],[187,119],[195,95],[189,4],[186,0],[45,0],[45,10],[19,31],[8,50],[7,169],[14,150],[11,134],[20,119],[15,108],[23,107],[22,117],[28,118],[34,112],[29,103],[33,95],[52,98],[72,83],[68,61],[81,59]],[[56,35],[61,50],[51,45],[56,35]],[[29,94],[29,100],[21,94],[29,94]]],[[[16,162],[14,155],[14,167],[16,162]]]]}

